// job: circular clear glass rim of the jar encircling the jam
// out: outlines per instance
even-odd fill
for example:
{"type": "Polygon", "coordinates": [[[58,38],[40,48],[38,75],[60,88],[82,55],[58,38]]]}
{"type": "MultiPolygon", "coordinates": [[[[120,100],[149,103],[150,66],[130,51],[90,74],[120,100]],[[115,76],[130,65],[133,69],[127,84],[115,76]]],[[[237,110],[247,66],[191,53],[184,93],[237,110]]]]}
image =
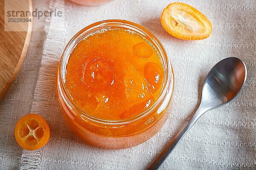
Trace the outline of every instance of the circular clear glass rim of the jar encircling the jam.
{"type": "MultiPolygon", "coordinates": [[[[151,113],[157,106],[160,106],[163,103],[163,100],[166,98],[166,95],[168,93],[167,90],[169,90],[168,86],[171,85],[169,81],[173,81],[173,70],[172,70],[172,64],[166,54],[166,51],[161,44],[160,40],[157,39],[157,37],[152,34],[148,29],[144,28],[143,26],[133,23],[131,21],[127,20],[103,20],[96,23],[93,23],[79,31],[77,34],[75,34],[71,40],[67,43],[66,47],[64,48],[64,51],[61,54],[61,61],[59,63],[59,69],[58,69],[58,88],[61,92],[61,97],[63,98],[66,105],[68,105],[69,108],[72,110],[78,111],[81,116],[96,122],[96,123],[102,123],[107,125],[123,125],[127,123],[131,123],[134,121],[137,121],[149,113],[151,113]],[[165,68],[165,76],[163,80],[163,87],[160,91],[160,95],[158,95],[157,99],[151,105],[151,107],[147,108],[142,113],[127,118],[127,119],[120,119],[120,120],[106,120],[106,119],[99,119],[97,117],[91,116],[90,114],[87,114],[85,111],[83,111],[81,108],[79,108],[75,102],[71,99],[70,95],[67,92],[67,89],[64,86],[64,79],[65,79],[65,69],[66,65],[70,56],[70,52],[73,50],[73,48],[87,35],[91,34],[92,32],[97,31],[97,29],[102,30],[104,28],[113,28],[113,27],[120,27],[120,28],[126,28],[130,29],[131,31],[136,31],[138,34],[141,34],[148,40],[150,38],[152,45],[157,49],[157,52],[160,54],[161,60],[163,62],[163,67],[165,68]],[[66,57],[66,58],[65,58],[66,57]],[[169,83],[168,83],[169,82],[169,83]]],[[[173,84],[173,83],[172,83],[173,84]]],[[[173,87],[172,87],[172,93],[173,93],[173,87]]]]}

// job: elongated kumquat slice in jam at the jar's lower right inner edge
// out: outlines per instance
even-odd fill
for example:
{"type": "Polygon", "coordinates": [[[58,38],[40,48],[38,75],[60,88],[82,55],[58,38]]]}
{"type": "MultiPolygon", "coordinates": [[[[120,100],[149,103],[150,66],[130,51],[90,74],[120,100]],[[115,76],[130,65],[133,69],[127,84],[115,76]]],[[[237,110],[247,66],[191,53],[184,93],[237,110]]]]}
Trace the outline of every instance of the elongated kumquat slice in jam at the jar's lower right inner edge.
{"type": "Polygon", "coordinates": [[[149,106],[151,106],[154,102],[154,97],[151,96],[149,99],[144,100],[143,102],[137,103],[135,105],[130,106],[124,112],[120,114],[121,119],[127,119],[132,116],[138,115],[138,113],[142,113],[146,110],[149,106]]]}

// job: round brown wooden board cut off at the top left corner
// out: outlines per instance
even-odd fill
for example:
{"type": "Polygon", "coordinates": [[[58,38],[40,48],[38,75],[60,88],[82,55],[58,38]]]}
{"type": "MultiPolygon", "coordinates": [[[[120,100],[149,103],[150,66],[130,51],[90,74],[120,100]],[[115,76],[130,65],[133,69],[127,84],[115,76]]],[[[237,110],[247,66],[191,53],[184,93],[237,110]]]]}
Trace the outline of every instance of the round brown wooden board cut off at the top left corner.
{"type": "MultiPolygon", "coordinates": [[[[26,31],[4,31],[4,0],[0,1],[0,99],[2,99],[26,57],[32,22],[26,23],[26,31]]],[[[24,8],[26,11],[32,11],[32,1],[24,0],[24,2],[18,4],[20,11],[24,8]]]]}

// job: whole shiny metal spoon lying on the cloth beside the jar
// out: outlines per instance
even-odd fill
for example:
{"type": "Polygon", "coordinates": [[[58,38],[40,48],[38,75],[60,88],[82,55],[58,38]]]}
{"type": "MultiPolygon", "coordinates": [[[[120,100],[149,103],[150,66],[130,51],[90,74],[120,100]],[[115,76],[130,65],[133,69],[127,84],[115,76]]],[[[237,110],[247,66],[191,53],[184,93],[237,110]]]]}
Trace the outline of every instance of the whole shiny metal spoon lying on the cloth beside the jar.
{"type": "Polygon", "coordinates": [[[185,136],[194,123],[206,111],[223,105],[232,100],[244,85],[247,77],[246,65],[243,61],[236,57],[230,57],[218,62],[207,75],[203,89],[201,104],[195,115],[183,127],[183,129],[175,136],[167,145],[163,152],[151,164],[148,170],[157,170],[161,167],[165,159],[172,153],[174,148],[185,136]]]}

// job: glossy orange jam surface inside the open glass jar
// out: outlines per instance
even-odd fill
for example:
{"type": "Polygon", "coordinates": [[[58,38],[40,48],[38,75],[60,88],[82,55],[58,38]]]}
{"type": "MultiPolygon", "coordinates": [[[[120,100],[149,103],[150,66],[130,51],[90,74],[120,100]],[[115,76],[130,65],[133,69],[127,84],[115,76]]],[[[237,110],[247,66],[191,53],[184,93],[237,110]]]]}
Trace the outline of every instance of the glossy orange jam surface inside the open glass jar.
{"type": "Polygon", "coordinates": [[[133,31],[103,29],[72,50],[64,84],[87,114],[106,120],[137,116],[163,86],[163,63],[148,40],[133,31]]]}

